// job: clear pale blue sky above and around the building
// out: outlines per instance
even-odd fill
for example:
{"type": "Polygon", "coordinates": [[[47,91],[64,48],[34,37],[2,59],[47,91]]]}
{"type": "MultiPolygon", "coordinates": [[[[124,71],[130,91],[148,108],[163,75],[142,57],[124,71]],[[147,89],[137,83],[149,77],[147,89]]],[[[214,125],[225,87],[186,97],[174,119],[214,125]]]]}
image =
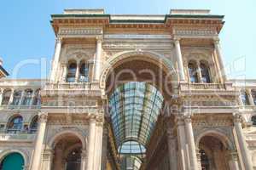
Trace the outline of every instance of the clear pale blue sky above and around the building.
{"type": "Polygon", "coordinates": [[[220,38],[228,76],[256,79],[255,7],[255,0],[1,0],[0,56],[10,78],[46,77],[41,65],[47,62],[49,68],[55,48],[50,14],[61,14],[64,8],[105,8],[107,14],[207,8],[225,15],[220,38]]]}

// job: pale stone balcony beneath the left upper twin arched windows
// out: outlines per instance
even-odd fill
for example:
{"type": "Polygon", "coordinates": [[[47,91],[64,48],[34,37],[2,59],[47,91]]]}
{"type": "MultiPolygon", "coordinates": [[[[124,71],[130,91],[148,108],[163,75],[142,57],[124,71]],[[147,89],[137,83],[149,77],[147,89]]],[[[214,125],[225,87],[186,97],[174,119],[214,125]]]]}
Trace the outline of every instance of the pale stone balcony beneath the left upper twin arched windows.
{"type": "Polygon", "coordinates": [[[98,82],[47,82],[41,95],[101,95],[98,82]]]}

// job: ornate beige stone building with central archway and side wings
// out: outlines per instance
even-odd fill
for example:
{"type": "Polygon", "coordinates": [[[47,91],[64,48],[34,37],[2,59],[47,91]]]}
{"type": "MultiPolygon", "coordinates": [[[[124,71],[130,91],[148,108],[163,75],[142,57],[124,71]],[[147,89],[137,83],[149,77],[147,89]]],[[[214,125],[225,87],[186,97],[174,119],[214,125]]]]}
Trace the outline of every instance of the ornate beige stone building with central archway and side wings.
{"type": "Polygon", "coordinates": [[[256,167],[256,80],[226,77],[224,16],[51,17],[49,80],[0,80],[0,169],[256,167]]]}

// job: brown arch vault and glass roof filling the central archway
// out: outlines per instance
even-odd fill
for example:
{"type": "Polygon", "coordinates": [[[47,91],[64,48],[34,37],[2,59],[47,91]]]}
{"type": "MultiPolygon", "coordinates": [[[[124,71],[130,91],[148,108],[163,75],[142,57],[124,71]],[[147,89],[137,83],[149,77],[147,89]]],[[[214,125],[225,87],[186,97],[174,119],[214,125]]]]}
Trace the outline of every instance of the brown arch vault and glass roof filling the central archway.
{"type": "Polygon", "coordinates": [[[121,169],[140,169],[165,102],[172,99],[175,72],[162,60],[130,56],[105,73],[110,124],[121,169]]]}

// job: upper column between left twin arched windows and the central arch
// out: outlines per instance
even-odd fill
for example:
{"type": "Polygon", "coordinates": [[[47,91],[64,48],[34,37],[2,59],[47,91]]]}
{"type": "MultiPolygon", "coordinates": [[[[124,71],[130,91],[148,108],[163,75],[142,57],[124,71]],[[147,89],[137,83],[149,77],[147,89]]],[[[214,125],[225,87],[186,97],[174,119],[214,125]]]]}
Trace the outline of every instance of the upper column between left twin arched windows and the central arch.
{"type": "Polygon", "coordinates": [[[96,37],[96,58],[94,60],[93,80],[99,81],[102,66],[102,37],[96,37]]]}

